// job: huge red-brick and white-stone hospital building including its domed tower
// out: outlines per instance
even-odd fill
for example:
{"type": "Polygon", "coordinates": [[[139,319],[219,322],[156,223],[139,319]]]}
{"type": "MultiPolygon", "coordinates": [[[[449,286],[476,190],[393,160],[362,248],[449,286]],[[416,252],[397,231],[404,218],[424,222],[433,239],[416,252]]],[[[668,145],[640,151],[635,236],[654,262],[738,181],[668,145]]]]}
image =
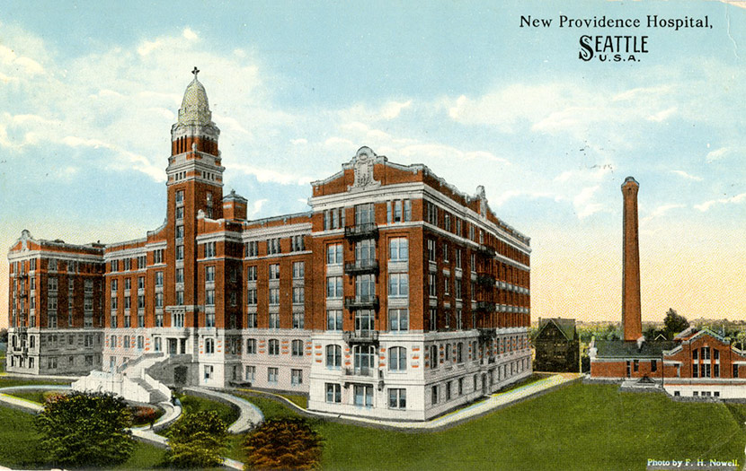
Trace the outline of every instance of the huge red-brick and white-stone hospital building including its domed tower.
{"type": "Polygon", "coordinates": [[[312,183],[309,212],[248,220],[246,200],[223,195],[219,133],[195,74],[161,227],[105,246],[23,232],[8,371],[147,359],[168,384],[250,382],[315,410],[420,420],[530,374],[529,239],[484,188],[468,196],[361,147],[312,183]]]}

